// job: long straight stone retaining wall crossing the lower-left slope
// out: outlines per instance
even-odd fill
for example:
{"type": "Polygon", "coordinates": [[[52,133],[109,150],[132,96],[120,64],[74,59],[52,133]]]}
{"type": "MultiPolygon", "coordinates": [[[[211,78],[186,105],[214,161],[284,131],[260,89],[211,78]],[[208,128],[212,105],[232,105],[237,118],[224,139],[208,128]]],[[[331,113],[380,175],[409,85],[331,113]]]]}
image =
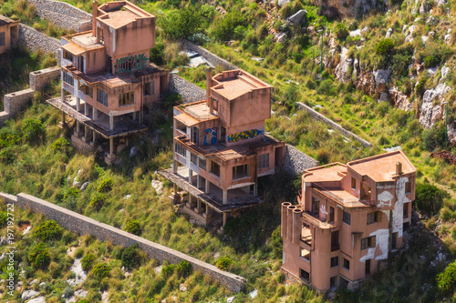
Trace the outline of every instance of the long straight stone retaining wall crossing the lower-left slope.
{"type": "Polygon", "coordinates": [[[56,220],[60,226],[80,235],[97,237],[100,241],[109,240],[122,247],[138,244],[150,258],[154,258],[159,262],[167,260],[170,263],[179,263],[182,260],[186,260],[192,264],[193,270],[201,270],[203,274],[211,276],[213,279],[219,281],[221,285],[234,292],[239,292],[244,288],[245,278],[220,270],[211,264],[182,254],[177,250],[161,246],[119,228],[111,227],[92,218],[79,215],[67,208],[58,207],[55,204],[26,194],[19,194],[15,199],[11,195],[0,193],[0,197],[4,197],[7,203],[15,203],[16,207],[31,210],[49,219],[56,220]]]}

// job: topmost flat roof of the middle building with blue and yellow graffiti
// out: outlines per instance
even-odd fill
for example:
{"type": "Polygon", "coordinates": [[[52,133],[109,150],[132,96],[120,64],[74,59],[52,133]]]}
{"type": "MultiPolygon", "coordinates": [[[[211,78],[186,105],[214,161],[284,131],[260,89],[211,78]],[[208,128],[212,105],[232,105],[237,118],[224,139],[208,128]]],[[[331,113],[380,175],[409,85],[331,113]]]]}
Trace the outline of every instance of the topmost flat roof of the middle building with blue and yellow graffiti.
{"type": "Polygon", "coordinates": [[[212,80],[216,83],[216,85],[212,86],[211,90],[229,100],[243,96],[255,89],[272,87],[257,77],[240,69],[224,71],[216,76],[213,76],[212,80]]]}

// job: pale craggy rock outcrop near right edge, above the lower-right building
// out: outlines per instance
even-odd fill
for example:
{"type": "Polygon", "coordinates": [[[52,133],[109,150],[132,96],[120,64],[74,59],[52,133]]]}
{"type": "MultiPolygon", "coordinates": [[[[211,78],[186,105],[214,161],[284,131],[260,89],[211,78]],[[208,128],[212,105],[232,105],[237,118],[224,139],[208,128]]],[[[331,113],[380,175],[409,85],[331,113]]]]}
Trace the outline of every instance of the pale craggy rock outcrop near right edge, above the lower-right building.
{"type": "Polygon", "coordinates": [[[425,129],[434,126],[442,118],[442,96],[447,94],[450,89],[450,86],[440,83],[434,89],[428,89],[424,92],[423,103],[420,108],[420,125],[425,129]]]}

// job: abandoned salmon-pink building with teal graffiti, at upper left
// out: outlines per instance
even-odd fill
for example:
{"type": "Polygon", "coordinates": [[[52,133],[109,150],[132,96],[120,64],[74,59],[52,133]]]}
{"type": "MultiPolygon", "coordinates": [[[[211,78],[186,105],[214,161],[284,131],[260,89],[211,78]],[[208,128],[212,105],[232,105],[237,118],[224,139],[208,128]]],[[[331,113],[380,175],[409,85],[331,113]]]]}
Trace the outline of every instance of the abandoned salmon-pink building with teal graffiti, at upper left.
{"type": "Polygon", "coordinates": [[[76,119],[73,146],[91,149],[97,134],[109,139],[112,164],[115,143],[146,130],[144,107],[169,89],[169,71],[149,62],[155,16],[128,1],[94,1],[92,30],[63,36],[61,45],[61,97],[47,102],[61,110],[62,125],[65,115],[76,119]]]}

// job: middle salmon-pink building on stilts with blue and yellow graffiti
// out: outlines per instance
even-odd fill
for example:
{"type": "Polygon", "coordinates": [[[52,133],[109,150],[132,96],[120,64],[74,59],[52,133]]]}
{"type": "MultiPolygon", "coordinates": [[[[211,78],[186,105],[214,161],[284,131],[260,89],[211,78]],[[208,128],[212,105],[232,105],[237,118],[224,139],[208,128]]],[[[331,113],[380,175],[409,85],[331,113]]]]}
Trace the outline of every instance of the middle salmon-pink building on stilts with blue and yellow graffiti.
{"type": "MultiPolygon", "coordinates": [[[[261,200],[258,177],[282,167],[285,143],[264,133],[271,88],[242,70],[212,77],[206,100],[174,107],[174,161],[161,175],[188,192],[183,211],[207,224],[261,200]]],[[[175,187],[175,189],[176,189],[175,187]]]]}

